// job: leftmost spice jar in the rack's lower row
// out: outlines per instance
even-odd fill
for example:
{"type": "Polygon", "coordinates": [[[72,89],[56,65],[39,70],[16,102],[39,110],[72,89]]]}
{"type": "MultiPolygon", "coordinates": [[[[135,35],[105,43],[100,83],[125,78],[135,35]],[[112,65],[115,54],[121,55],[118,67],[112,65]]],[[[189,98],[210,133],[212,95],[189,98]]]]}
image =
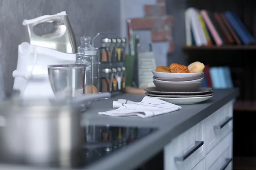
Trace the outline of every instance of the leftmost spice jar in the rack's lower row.
{"type": "Polygon", "coordinates": [[[113,73],[110,68],[102,69],[102,77],[100,83],[101,92],[111,92],[112,91],[112,81],[113,73]]]}

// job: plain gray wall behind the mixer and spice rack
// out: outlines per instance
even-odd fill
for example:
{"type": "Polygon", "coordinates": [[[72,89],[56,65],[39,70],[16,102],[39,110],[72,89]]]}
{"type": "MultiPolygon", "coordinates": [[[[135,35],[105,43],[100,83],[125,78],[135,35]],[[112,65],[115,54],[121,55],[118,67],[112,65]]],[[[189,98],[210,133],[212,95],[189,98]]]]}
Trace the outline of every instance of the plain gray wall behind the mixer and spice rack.
{"type": "Polygon", "coordinates": [[[119,6],[119,0],[0,0],[0,68],[5,91],[12,91],[24,19],[66,11],[80,45],[82,35],[93,37],[98,32],[113,31],[119,36],[119,6]]]}

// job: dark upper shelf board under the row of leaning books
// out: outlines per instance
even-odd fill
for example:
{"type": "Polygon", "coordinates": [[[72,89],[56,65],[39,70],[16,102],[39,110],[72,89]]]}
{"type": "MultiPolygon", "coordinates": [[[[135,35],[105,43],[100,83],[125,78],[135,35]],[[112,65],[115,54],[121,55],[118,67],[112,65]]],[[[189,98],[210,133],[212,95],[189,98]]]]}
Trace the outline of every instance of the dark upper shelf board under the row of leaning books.
{"type": "Polygon", "coordinates": [[[256,45],[222,45],[222,46],[183,46],[184,51],[191,50],[256,50],[256,45]]]}

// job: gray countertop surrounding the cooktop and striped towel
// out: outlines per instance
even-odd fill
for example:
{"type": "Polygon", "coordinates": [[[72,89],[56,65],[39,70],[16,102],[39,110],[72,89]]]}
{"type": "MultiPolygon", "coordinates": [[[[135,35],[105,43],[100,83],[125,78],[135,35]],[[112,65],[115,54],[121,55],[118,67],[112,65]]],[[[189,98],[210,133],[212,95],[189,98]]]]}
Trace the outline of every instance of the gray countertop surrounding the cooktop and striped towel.
{"type": "MultiPolygon", "coordinates": [[[[180,133],[201,122],[217,111],[227,102],[236,98],[238,89],[215,89],[211,99],[194,105],[181,105],[182,109],[172,113],[150,118],[112,117],[99,115],[100,111],[112,110],[112,102],[117,99],[128,99],[140,102],[145,95],[122,94],[111,99],[94,102],[82,115],[83,123],[92,125],[125,125],[138,127],[157,127],[157,131],[140,139],[138,142],[96,161],[85,170],[131,170],[154,156],[180,133]]],[[[0,169],[17,169],[10,165],[0,165],[0,169]]],[[[24,167],[25,169],[30,169],[24,167]]],[[[22,169],[22,168],[19,168],[22,169]]],[[[24,170],[25,170],[24,169],[24,170]]]]}

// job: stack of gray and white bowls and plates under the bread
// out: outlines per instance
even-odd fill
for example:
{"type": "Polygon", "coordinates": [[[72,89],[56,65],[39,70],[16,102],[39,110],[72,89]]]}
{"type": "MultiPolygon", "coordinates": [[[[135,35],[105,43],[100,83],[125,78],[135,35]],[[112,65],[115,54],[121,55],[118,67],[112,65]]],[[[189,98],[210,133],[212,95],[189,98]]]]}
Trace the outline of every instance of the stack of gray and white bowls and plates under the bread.
{"type": "Polygon", "coordinates": [[[156,87],[145,88],[146,95],[173,104],[195,104],[213,96],[212,88],[203,88],[202,73],[163,73],[152,71],[156,87]]]}

